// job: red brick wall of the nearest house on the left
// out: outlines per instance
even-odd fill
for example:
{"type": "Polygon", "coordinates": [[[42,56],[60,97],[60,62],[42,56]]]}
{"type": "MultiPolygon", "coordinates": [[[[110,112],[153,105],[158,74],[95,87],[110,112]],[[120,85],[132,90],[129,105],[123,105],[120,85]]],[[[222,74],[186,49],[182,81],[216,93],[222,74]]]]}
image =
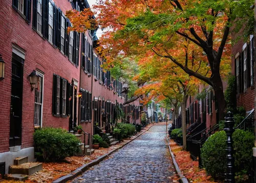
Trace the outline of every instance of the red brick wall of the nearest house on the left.
{"type": "MultiPolygon", "coordinates": [[[[63,12],[72,8],[68,1],[54,2],[63,12]]],[[[60,75],[71,82],[73,78],[79,80],[80,70],[58,49],[32,30],[32,24],[28,25],[24,18],[12,8],[12,0],[2,1],[0,25],[0,54],[6,62],[5,79],[0,81],[0,152],[6,152],[9,150],[12,44],[25,50],[22,148],[33,146],[34,90],[31,91],[28,75],[36,69],[45,73],[42,126],[68,129],[69,118],[52,116],[53,74],[60,75]]]]}

